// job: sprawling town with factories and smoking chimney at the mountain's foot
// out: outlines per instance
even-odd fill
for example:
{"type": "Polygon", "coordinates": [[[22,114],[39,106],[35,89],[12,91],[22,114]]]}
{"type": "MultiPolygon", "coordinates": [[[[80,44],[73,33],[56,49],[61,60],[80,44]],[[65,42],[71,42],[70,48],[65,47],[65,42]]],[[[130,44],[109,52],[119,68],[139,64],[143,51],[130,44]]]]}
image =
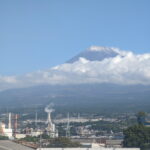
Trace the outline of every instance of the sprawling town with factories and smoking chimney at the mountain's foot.
{"type": "MultiPolygon", "coordinates": [[[[44,109],[47,118],[38,118],[38,111],[35,111],[32,114],[34,117],[31,118],[28,113],[20,115],[14,112],[2,113],[0,114],[0,139],[13,141],[15,144],[32,149],[57,146],[123,148],[123,131],[136,125],[138,120],[135,113],[113,114],[108,117],[68,112],[66,116],[56,114],[54,117],[54,112],[54,105],[51,103],[44,109]]],[[[148,114],[146,118],[143,116],[140,118],[145,126],[150,126],[148,120],[148,114]]]]}

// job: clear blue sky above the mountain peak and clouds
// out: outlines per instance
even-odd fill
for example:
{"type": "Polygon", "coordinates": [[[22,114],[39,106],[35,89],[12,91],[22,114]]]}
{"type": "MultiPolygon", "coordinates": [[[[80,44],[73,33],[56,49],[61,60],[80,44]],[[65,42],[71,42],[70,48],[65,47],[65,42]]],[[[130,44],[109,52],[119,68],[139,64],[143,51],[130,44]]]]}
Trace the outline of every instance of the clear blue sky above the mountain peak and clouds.
{"type": "Polygon", "coordinates": [[[91,45],[150,52],[149,0],[0,1],[0,75],[64,63],[91,45]]]}

